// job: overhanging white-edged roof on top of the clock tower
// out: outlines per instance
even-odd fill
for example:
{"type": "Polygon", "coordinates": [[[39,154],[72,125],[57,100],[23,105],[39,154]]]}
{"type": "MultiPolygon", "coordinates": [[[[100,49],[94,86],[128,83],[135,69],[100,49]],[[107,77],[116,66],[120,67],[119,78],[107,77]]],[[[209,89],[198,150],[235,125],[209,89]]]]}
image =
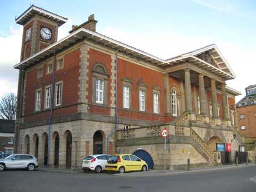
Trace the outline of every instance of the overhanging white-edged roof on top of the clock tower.
{"type": "Polygon", "coordinates": [[[40,7],[36,7],[35,5],[31,5],[30,8],[17,17],[15,21],[20,25],[24,25],[24,23],[30,20],[35,14],[54,20],[59,26],[63,25],[67,21],[67,17],[59,16],[58,14],[52,13],[40,7]]]}

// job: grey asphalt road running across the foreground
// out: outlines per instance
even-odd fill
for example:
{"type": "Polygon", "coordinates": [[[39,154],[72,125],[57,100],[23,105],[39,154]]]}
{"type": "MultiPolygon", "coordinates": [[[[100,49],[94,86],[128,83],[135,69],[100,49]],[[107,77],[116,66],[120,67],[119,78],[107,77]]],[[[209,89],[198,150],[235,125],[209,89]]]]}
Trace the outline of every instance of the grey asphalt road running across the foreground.
{"type": "MultiPolygon", "coordinates": [[[[150,172],[148,172],[150,175],[150,172]]],[[[58,173],[7,170],[0,173],[0,191],[256,191],[256,166],[134,177],[129,174],[58,173]]]]}

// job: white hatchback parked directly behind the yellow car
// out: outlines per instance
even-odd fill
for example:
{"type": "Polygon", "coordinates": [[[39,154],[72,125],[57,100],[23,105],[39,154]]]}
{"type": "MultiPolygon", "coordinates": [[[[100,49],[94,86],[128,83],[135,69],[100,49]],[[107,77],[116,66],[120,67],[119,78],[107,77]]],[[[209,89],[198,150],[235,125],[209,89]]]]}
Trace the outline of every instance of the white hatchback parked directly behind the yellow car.
{"type": "Polygon", "coordinates": [[[90,172],[90,170],[92,170],[95,173],[101,173],[105,170],[107,159],[109,157],[110,155],[105,154],[86,156],[83,160],[82,169],[84,172],[90,172]]]}

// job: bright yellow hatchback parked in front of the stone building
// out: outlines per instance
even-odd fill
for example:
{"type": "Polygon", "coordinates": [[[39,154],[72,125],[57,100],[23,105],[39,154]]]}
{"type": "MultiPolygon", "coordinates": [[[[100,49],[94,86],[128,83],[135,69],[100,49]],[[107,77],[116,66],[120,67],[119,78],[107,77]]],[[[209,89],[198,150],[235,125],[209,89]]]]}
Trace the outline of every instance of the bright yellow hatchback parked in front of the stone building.
{"type": "Polygon", "coordinates": [[[146,170],[148,170],[148,164],[136,155],[132,154],[111,155],[110,158],[108,158],[105,167],[107,173],[125,173],[134,171],[146,172],[146,170]]]}

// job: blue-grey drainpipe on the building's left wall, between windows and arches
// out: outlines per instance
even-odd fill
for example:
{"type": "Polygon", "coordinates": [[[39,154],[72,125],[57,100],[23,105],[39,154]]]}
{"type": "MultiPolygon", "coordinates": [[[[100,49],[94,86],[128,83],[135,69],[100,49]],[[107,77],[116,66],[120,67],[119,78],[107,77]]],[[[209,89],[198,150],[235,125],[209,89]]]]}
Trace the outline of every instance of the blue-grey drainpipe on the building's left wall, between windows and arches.
{"type": "Polygon", "coordinates": [[[49,168],[49,159],[51,152],[51,120],[52,120],[52,112],[54,109],[54,91],[55,91],[55,63],[56,63],[56,52],[54,53],[54,63],[52,64],[52,90],[51,90],[51,110],[50,116],[48,119],[48,153],[47,153],[47,167],[49,168]]]}

